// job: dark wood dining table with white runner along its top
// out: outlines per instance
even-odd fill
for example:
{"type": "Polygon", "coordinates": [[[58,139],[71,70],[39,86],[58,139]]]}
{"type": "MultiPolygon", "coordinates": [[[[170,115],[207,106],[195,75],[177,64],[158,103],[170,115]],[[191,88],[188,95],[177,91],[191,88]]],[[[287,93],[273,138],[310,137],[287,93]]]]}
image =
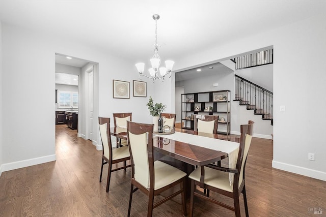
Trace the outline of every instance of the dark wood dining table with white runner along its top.
{"type": "MultiPolygon", "coordinates": [[[[124,127],[112,127],[110,131],[112,136],[127,139],[127,129],[124,127]]],[[[225,158],[229,158],[228,167],[235,168],[239,143],[218,139],[217,134],[173,129],[172,133],[153,132],[153,149],[155,160],[168,163],[189,175],[195,167],[214,164],[225,158]]],[[[230,184],[233,176],[234,173],[230,173],[230,184]]],[[[190,182],[187,185],[190,188],[190,182]]]]}

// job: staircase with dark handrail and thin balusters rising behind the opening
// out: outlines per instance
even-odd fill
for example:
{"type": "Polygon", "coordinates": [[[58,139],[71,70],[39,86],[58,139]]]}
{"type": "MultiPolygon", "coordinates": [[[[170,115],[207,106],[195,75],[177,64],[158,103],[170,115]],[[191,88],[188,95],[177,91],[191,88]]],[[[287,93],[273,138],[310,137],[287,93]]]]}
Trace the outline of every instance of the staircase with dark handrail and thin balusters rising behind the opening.
{"type": "Polygon", "coordinates": [[[247,106],[263,120],[270,120],[273,125],[273,92],[254,84],[240,76],[235,76],[235,99],[240,106],[247,106]]]}

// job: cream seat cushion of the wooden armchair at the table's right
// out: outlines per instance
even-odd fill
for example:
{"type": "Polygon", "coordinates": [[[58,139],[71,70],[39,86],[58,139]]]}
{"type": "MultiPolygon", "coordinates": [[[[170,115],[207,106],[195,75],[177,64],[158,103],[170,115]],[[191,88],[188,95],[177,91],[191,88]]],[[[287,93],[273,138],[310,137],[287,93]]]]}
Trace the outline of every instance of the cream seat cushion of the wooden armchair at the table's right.
{"type": "MultiPolygon", "coordinates": [[[[233,192],[233,184],[230,185],[228,172],[215,170],[209,167],[204,167],[204,168],[205,168],[205,178],[204,178],[205,184],[217,189],[233,192]]],[[[200,175],[201,175],[201,167],[198,167],[189,175],[189,178],[194,179],[195,181],[200,181],[200,175]]]]}

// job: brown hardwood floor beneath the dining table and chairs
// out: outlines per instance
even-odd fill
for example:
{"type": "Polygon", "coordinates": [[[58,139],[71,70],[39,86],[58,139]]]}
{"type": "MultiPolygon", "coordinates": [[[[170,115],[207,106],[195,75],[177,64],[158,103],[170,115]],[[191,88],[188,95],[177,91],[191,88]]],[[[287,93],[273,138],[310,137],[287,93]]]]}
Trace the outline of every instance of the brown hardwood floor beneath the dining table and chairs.
{"type": "MultiPolygon", "coordinates": [[[[56,126],[57,161],[3,172],[0,216],[126,216],[130,168],[112,173],[105,192],[107,165],[99,182],[102,151],[76,131],[56,126]]],[[[253,138],[246,167],[251,216],[326,216],[326,182],[271,168],[273,141],[253,138]],[[319,208],[316,215],[309,208],[319,208]]],[[[224,162],[225,163],[225,162],[224,162]]],[[[121,166],[121,165],[120,165],[121,166]]],[[[211,197],[232,201],[213,192],[211,197]]],[[[159,196],[161,197],[161,196],[159,196]]],[[[180,196],[160,205],[153,216],[182,216],[180,196]]],[[[241,215],[245,216],[240,196],[241,215]]],[[[187,204],[189,213],[189,203],[187,204]]],[[[145,216],[147,197],[133,194],[131,216],[145,216]]],[[[200,199],[194,216],[234,216],[234,212],[200,199]]]]}

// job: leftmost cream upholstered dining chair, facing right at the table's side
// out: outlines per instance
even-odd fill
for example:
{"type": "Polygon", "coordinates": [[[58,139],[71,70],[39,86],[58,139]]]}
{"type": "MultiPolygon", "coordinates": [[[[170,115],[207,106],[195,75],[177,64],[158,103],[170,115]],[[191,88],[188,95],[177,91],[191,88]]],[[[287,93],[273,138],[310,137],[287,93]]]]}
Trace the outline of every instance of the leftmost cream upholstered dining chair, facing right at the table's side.
{"type": "Polygon", "coordinates": [[[102,140],[103,154],[102,154],[102,165],[100,182],[102,181],[103,165],[108,164],[107,181],[106,181],[106,192],[110,187],[111,172],[124,169],[131,165],[126,165],[126,161],[130,160],[129,148],[127,146],[112,149],[111,136],[110,136],[110,118],[109,117],[98,117],[98,123],[100,128],[100,136],[102,140]],[[104,162],[105,161],[105,162],[104,162]],[[112,169],[113,164],[123,162],[123,167],[112,169]]]}

